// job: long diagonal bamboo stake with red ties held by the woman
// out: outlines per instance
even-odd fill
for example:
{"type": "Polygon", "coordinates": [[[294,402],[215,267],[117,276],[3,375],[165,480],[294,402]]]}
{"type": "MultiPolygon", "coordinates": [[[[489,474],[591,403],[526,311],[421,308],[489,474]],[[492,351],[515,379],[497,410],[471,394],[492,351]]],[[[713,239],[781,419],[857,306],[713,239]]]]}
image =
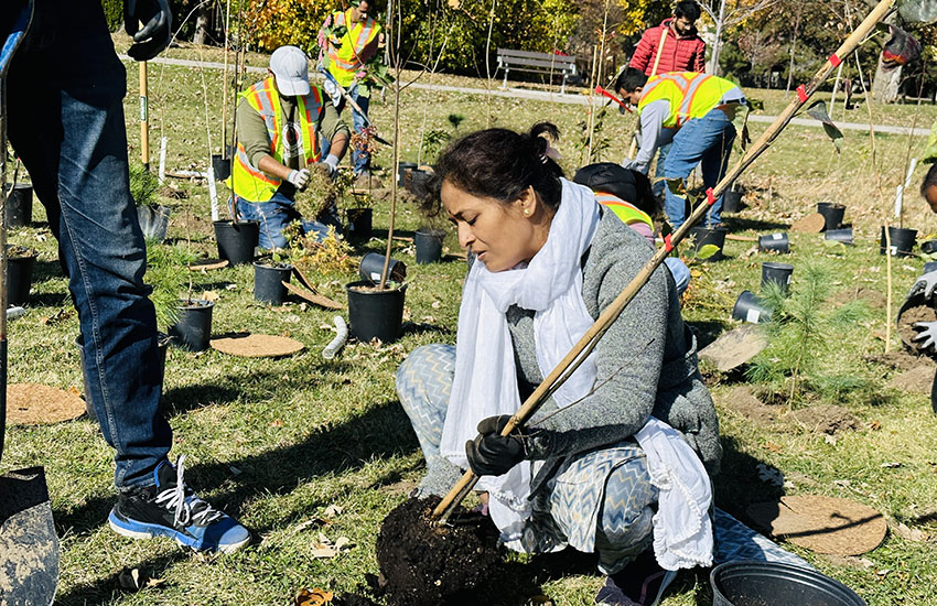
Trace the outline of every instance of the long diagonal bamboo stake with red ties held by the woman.
{"type": "MultiPolygon", "coordinates": [[[[840,47],[837,48],[836,56],[849,56],[862,39],[872,31],[872,28],[874,28],[875,24],[885,17],[894,1],[895,0],[881,0],[879,4],[872,9],[872,12],[869,13],[865,20],[859,24],[859,28],[857,28],[855,31],[846,39],[840,47]]],[[[767,130],[762,133],[758,140],[748,148],[748,151],[742,156],[739,163],[733,166],[733,169],[724,177],[722,177],[722,181],[720,181],[715,187],[712,188],[712,196],[714,199],[719,198],[729,185],[734,182],[739,175],[755,161],[755,159],[768,149],[771,143],[777,139],[778,134],[780,134],[784,128],[794,118],[797,110],[800,109],[810,96],[817,91],[817,88],[826,82],[832,71],[833,64],[830,63],[830,59],[827,59],[810,82],[804,85],[803,95],[795,96],[787,108],[785,108],[785,110],[777,117],[777,119],[775,119],[767,130]]],[[[566,357],[560,360],[560,364],[550,371],[550,374],[543,379],[543,382],[541,382],[537,389],[534,390],[534,393],[527,398],[520,409],[518,409],[518,411],[507,422],[504,431],[502,431],[502,435],[510,434],[510,432],[513,432],[516,428],[527,422],[527,420],[537,412],[543,401],[546,401],[547,397],[559,389],[562,382],[572,375],[577,368],[579,368],[592,348],[595,347],[595,343],[602,338],[602,335],[605,334],[612,323],[615,322],[622,313],[622,310],[625,309],[625,305],[634,299],[635,294],[637,294],[648,280],[650,280],[650,275],[654,273],[654,270],[656,270],[657,267],[664,262],[664,259],[670,255],[672,247],[679,244],[687,236],[690,228],[692,228],[708,210],[708,204],[699,204],[693,209],[687,221],[677,228],[677,230],[671,235],[670,246],[659,248],[654,257],[645,263],[631,283],[625,286],[621,294],[618,294],[618,296],[615,297],[605,311],[602,312],[599,320],[596,320],[585,334],[582,335],[582,338],[577,342],[566,357]]],[[[475,476],[471,469],[465,472],[449,494],[440,501],[435,509],[433,509],[432,518],[438,519],[440,522],[448,520],[452,511],[455,510],[459,504],[462,502],[477,481],[478,477],[475,476]]]]}

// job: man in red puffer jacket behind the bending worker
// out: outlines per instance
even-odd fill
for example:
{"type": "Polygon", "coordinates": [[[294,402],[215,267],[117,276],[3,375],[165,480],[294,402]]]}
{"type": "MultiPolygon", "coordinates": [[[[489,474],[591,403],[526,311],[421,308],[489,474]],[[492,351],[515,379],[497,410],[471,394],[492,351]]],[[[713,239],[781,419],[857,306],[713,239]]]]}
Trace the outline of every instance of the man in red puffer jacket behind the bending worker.
{"type": "MultiPolygon", "coordinates": [[[[674,17],[665,19],[660,25],[645,30],[642,34],[628,67],[640,69],[648,77],[668,72],[706,73],[706,42],[697,34],[696,26],[699,18],[700,8],[696,2],[692,0],[677,2],[674,17]],[[655,63],[657,63],[656,69],[655,63]]],[[[664,159],[669,151],[669,143],[658,149],[656,177],[663,175],[659,167],[664,165],[664,159]]],[[[663,196],[664,181],[656,180],[653,191],[655,196],[663,196]]]]}

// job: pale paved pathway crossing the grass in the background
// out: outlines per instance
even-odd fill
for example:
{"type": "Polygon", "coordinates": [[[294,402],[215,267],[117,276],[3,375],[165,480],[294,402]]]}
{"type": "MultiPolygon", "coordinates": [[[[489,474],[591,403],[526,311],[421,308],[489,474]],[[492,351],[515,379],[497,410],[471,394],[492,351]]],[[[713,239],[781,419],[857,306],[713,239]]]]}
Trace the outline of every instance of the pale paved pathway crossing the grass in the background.
{"type": "MultiPolygon", "coordinates": [[[[120,55],[120,58],[123,61],[132,61],[127,55],[120,55]]],[[[179,65],[184,67],[198,67],[200,62],[192,59],[183,59],[183,58],[168,58],[168,57],[157,57],[152,59],[150,63],[162,63],[165,65],[179,65]]],[[[223,69],[224,64],[218,62],[204,62],[201,64],[203,67],[207,67],[211,69],[223,69]]],[[[248,72],[251,73],[266,73],[266,67],[255,67],[248,66],[248,72]]],[[[554,104],[567,104],[567,105],[589,105],[589,97],[585,95],[560,95],[559,93],[551,93],[546,90],[527,90],[523,88],[499,88],[495,87],[491,90],[485,88],[472,88],[466,86],[446,86],[441,84],[426,84],[421,82],[414,82],[410,85],[411,88],[418,88],[421,90],[440,90],[446,93],[462,93],[465,95],[492,95],[493,97],[505,97],[509,99],[535,99],[539,101],[549,101],[554,104]]],[[[600,97],[601,98],[601,97],[600,97]]],[[[748,116],[748,120],[752,122],[774,122],[777,116],[761,116],[761,115],[751,115],[748,116]]],[[[791,125],[805,126],[805,127],[821,127],[822,125],[814,120],[812,118],[794,118],[790,120],[791,125]]],[[[869,123],[863,122],[836,122],[836,125],[840,128],[840,130],[861,130],[869,132],[869,123]]],[[[892,134],[915,134],[917,137],[926,137],[930,133],[930,130],[927,128],[915,128],[911,129],[909,127],[895,127],[888,125],[875,125],[875,132],[887,132],[892,134]]]]}

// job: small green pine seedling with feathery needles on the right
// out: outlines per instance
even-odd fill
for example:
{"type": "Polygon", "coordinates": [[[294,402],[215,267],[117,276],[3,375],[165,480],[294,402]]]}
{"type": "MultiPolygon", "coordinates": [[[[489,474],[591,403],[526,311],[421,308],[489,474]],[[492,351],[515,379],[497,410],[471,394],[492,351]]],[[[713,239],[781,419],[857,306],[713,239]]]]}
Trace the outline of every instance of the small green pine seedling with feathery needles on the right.
{"type": "Polygon", "coordinates": [[[762,292],[772,309],[771,322],[765,324],[769,345],[753,360],[746,376],[776,389],[786,386],[791,405],[805,388],[836,397],[851,386],[864,385],[862,379],[837,370],[834,354],[839,339],[848,338],[868,310],[860,301],[834,307],[829,302],[832,283],[830,270],[811,260],[798,267],[789,295],[773,282],[762,292]]]}

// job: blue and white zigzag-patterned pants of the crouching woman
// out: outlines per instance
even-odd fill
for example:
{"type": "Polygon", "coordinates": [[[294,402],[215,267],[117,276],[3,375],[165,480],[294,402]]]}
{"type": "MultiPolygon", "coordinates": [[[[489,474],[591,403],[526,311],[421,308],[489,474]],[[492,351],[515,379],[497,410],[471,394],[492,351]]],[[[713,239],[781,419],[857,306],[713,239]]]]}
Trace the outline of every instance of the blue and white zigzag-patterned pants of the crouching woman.
{"type": "MultiPolygon", "coordinates": [[[[427,459],[426,493],[444,494],[457,478],[439,454],[454,372],[452,345],[419,347],[397,370],[397,394],[427,459]]],[[[651,544],[657,488],[634,441],[567,458],[532,498],[523,539],[529,552],[570,545],[597,553],[599,570],[614,574],[651,544]]]]}

